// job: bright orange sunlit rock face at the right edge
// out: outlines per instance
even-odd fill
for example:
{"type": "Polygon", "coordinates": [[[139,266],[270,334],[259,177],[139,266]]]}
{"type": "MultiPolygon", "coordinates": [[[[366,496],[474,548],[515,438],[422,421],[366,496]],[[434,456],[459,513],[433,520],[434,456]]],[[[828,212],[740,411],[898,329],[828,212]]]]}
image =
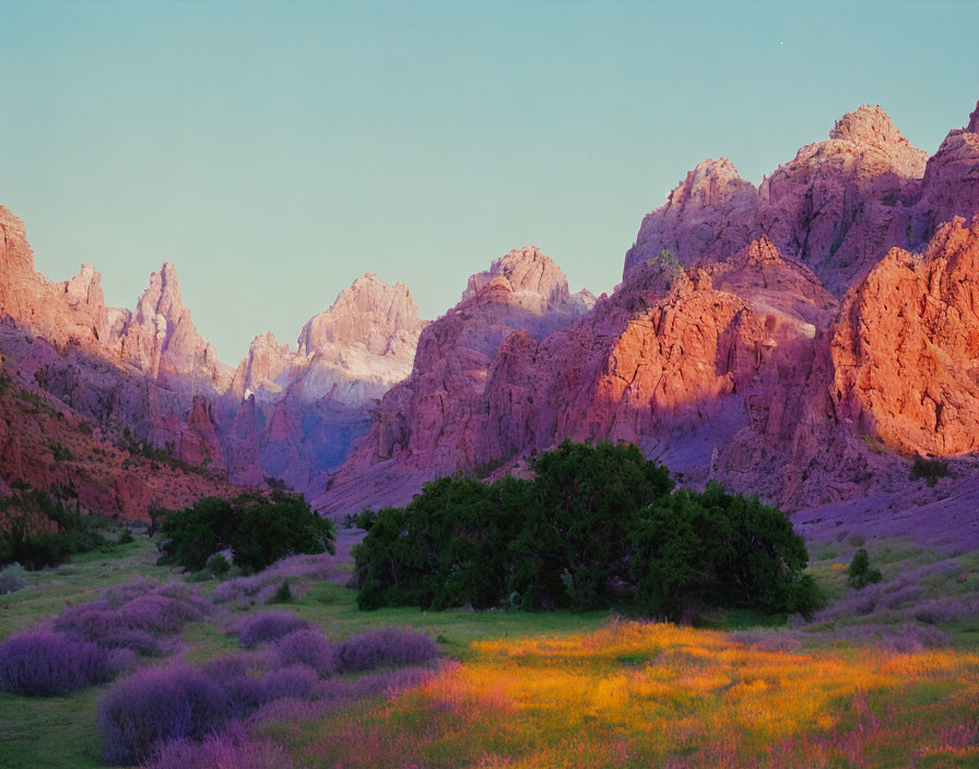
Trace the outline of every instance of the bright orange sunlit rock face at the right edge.
{"type": "Polygon", "coordinates": [[[979,450],[979,217],[874,267],[847,296],[833,363],[838,409],[860,434],[906,454],[979,450]]]}

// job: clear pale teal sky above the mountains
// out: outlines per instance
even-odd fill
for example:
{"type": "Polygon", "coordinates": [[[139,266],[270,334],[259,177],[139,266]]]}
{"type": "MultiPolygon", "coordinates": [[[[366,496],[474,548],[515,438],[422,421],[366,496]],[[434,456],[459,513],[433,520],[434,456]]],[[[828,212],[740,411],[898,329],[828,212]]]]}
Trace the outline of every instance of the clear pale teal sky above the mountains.
{"type": "Polygon", "coordinates": [[[527,245],[611,291],[698,162],[758,182],[864,102],[932,153],[977,28],[974,0],[0,0],[0,204],[109,305],[173,261],[234,364],[365,272],[426,318],[527,245]]]}

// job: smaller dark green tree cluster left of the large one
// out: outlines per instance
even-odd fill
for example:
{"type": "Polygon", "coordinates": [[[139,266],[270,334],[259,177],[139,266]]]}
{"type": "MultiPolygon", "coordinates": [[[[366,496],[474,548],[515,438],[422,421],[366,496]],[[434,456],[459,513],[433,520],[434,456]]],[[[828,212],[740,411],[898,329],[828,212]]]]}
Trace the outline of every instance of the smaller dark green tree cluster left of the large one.
{"type": "Polygon", "coordinates": [[[200,571],[216,552],[231,548],[246,572],[296,553],[334,553],[332,521],[314,512],[302,495],[273,492],[234,499],[207,497],[170,512],[160,525],[164,564],[200,571]]]}

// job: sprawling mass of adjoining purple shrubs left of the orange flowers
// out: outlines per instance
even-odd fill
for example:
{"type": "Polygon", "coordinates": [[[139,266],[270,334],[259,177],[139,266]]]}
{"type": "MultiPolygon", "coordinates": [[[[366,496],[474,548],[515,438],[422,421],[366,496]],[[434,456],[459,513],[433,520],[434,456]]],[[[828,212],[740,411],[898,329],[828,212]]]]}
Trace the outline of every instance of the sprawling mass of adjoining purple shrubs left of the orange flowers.
{"type": "Polygon", "coordinates": [[[211,660],[200,670],[139,670],[107,693],[98,717],[105,760],[149,761],[150,769],[237,768],[252,766],[249,761],[278,766],[281,754],[251,742],[241,724],[315,718],[356,699],[415,686],[434,674],[408,667],[322,679],[434,659],[435,643],[411,630],[373,630],[334,646],[298,615],[275,611],[245,619],[238,639],[246,648],[274,646],[211,660]]]}

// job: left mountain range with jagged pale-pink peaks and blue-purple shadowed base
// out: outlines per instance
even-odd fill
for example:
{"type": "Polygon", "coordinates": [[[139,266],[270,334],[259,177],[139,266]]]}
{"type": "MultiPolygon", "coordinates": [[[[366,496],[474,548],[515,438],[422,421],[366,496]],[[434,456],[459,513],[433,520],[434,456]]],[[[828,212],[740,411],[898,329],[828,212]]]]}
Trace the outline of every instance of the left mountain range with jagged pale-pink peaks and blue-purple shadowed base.
{"type": "Polygon", "coordinates": [[[264,334],[231,368],[193,326],[174,264],[133,310],[111,308],[90,264],[64,283],[35,272],[24,225],[2,206],[0,233],[0,353],[116,446],[144,441],[234,484],[276,477],[303,490],[411,370],[423,322],[403,284],[357,279],[295,352],[264,334]]]}

